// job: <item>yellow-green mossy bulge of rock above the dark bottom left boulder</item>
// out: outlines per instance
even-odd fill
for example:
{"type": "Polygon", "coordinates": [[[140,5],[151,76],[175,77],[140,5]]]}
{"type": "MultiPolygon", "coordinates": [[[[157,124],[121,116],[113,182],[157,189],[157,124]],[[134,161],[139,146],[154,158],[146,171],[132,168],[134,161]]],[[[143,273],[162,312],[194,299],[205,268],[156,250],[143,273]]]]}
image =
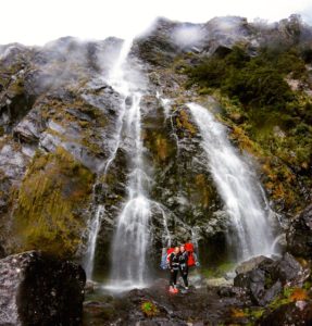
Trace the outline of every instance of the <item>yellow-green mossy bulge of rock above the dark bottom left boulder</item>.
{"type": "Polygon", "coordinates": [[[91,193],[93,175],[62,148],[38,152],[23,179],[15,211],[21,249],[71,256],[85,227],[79,209],[91,193]]]}

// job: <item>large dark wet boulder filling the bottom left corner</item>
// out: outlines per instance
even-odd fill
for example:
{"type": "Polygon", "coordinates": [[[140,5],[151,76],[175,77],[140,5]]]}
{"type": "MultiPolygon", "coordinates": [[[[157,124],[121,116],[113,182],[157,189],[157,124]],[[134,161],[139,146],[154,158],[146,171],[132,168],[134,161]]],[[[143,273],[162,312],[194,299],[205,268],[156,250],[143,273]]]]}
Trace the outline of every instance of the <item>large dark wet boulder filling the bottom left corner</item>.
{"type": "Polygon", "coordinates": [[[1,325],[80,325],[84,269],[40,252],[0,260],[1,325]]]}

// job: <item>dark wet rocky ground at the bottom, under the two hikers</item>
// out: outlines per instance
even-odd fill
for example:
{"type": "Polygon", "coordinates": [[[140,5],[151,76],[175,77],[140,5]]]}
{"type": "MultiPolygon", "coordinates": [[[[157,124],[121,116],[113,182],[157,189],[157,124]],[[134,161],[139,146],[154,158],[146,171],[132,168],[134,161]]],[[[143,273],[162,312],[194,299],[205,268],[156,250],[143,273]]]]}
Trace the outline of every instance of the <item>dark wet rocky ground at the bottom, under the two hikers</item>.
{"type": "MultiPolygon", "coordinates": [[[[167,291],[167,280],[123,294],[89,292],[84,325],[310,325],[312,288],[309,268],[286,253],[284,258],[253,259],[236,269],[234,286],[213,279],[190,279],[179,293],[167,291]],[[205,284],[209,285],[205,285],[205,284]]],[[[233,281],[232,281],[233,283],[233,281]]]]}

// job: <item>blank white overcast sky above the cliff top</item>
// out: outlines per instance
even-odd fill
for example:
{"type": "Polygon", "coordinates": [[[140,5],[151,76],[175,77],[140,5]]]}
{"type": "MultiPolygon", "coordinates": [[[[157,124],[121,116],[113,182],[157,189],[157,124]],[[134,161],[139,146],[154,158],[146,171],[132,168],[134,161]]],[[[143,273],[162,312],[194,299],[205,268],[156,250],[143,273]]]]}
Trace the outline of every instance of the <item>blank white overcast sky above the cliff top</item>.
{"type": "Polygon", "coordinates": [[[205,23],[214,16],[239,15],[248,21],[257,17],[279,21],[292,13],[311,22],[309,0],[229,1],[220,0],[11,0],[1,3],[0,45],[21,42],[45,45],[64,36],[80,39],[104,39],[110,36],[132,38],[146,29],[157,16],[192,23],[205,23]]]}

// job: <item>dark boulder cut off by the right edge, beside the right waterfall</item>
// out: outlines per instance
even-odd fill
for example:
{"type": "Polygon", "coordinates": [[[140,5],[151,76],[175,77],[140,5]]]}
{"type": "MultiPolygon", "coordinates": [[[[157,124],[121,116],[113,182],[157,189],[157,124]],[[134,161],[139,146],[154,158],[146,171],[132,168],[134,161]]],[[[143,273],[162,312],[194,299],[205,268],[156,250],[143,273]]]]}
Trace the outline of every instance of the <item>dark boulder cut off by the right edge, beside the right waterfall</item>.
{"type": "Polygon", "coordinates": [[[292,254],[312,258],[312,205],[292,221],[287,233],[287,247],[292,254]]]}

